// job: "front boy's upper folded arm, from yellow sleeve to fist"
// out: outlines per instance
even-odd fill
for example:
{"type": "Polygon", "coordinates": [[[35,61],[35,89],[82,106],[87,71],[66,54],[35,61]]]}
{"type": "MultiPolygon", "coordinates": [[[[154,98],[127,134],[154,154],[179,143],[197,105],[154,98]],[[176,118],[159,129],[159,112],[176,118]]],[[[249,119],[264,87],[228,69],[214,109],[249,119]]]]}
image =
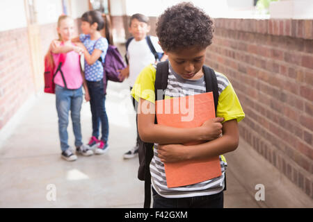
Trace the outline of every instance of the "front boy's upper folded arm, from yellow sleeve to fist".
{"type": "Polygon", "coordinates": [[[141,99],[138,103],[138,133],[143,142],[182,144],[215,139],[221,133],[223,118],[211,119],[197,128],[173,128],[154,124],[154,113],[154,103],[141,99]]]}

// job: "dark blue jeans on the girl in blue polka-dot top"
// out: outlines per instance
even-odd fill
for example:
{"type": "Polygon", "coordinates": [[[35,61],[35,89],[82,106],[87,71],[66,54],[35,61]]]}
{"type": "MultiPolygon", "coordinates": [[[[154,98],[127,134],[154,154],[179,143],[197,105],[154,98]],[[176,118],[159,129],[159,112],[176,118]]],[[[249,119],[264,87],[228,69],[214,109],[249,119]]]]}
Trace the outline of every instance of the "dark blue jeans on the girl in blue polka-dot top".
{"type": "Polygon", "coordinates": [[[109,137],[109,121],[106,115],[106,95],[104,94],[103,80],[97,82],[86,81],[90,95],[90,110],[93,121],[93,136],[98,139],[99,127],[101,123],[101,140],[106,142],[109,137]]]}

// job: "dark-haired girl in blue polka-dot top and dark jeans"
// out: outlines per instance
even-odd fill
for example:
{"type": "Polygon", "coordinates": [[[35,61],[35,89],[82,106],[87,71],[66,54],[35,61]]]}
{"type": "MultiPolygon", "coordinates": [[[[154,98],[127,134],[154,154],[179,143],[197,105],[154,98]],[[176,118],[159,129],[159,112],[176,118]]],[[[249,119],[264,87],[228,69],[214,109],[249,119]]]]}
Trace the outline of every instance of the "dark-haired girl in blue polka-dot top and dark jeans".
{"type": "Polygon", "coordinates": [[[103,73],[106,51],[109,47],[108,41],[102,37],[100,31],[104,28],[102,13],[97,10],[85,12],[81,17],[81,30],[83,34],[72,40],[82,42],[85,46],[85,76],[90,94],[90,110],[93,121],[93,135],[88,145],[95,149],[96,154],[106,153],[108,150],[109,122],[106,115],[103,73]],[[99,60],[101,58],[102,62],[99,60]],[[99,137],[99,126],[101,123],[102,137],[99,137]]]}

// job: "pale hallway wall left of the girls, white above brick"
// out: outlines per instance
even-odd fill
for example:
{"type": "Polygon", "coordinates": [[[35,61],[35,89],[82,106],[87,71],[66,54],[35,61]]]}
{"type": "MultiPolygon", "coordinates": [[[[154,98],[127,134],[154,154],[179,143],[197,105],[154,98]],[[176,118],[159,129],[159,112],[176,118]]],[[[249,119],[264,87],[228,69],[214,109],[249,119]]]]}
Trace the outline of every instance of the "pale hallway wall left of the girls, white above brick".
{"type": "MultiPolygon", "coordinates": [[[[67,11],[75,19],[75,35],[80,33],[81,14],[88,10],[88,0],[67,2],[67,11]]],[[[51,40],[58,37],[56,22],[63,13],[62,1],[35,1],[38,12],[39,49],[42,61],[51,40]]],[[[15,113],[34,94],[43,92],[43,70],[33,71],[29,33],[24,0],[0,1],[0,19],[7,21],[0,27],[0,130],[14,117],[15,113]],[[13,13],[15,12],[15,13],[13,13]],[[36,92],[36,83],[40,84],[36,92]]],[[[0,134],[1,137],[1,134],[0,134]]]]}

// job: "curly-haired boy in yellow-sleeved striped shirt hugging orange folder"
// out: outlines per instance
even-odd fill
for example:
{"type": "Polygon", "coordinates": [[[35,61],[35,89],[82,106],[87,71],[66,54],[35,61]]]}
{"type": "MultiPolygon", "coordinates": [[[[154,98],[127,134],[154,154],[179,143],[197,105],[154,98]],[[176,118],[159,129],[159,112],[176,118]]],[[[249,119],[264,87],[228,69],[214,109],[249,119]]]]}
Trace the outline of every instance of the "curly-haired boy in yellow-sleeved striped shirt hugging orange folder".
{"type": "MultiPolygon", "coordinates": [[[[202,67],[213,33],[211,18],[191,3],[172,6],[159,17],[157,36],[164,53],[168,55],[170,69],[166,99],[206,91],[202,67]]],[[[215,119],[204,122],[198,128],[172,128],[154,123],[155,76],[153,65],[145,67],[131,90],[131,95],[140,102],[138,133],[144,142],[154,143],[154,157],[150,163],[153,207],[222,208],[227,167],[222,154],[237,148],[237,122],[245,116],[230,81],[216,72],[219,96],[215,119]],[[147,113],[146,109],[152,112],[147,113]],[[201,141],[202,144],[182,145],[194,141],[201,141]],[[220,156],[221,176],[185,187],[167,187],[164,163],[217,155],[220,156]]]]}

